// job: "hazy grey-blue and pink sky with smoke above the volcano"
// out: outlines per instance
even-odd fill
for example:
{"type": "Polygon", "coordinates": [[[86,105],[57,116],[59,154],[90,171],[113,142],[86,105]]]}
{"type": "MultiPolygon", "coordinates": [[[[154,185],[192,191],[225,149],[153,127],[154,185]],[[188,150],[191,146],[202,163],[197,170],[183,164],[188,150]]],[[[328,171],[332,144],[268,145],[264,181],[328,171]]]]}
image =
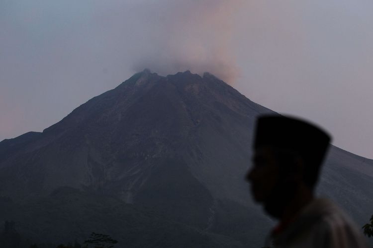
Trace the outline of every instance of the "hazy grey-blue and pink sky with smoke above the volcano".
{"type": "Polygon", "coordinates": [[[209,71],[373,158],[372,0],[0,0],[0,140],[147,67],[209,71]]]}

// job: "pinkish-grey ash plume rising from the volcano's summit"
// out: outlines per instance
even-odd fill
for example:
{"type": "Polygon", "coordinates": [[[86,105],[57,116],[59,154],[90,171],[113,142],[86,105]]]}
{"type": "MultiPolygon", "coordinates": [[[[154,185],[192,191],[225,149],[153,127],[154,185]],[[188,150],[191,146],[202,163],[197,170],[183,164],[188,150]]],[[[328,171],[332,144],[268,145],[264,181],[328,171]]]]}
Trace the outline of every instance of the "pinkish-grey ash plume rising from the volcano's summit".
{"type": "Polygon", "coordinates": [[[242,0],[163,0],[139,3],[143,22],[132,57],[136,71],[150,68],[160,74],[190,70],[210,72],[228,83],[239,75],[233,49],[235,16],[242,0]]]}

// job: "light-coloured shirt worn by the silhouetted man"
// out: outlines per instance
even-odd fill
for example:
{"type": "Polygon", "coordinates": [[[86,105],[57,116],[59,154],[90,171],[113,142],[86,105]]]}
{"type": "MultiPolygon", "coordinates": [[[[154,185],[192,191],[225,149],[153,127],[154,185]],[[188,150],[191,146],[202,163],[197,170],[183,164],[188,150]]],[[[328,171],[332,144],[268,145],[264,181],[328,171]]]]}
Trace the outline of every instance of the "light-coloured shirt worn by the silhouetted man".
{"type": "Polygon", "coordinates": [[[368,248],[362,230],[331,200],[314,199],[280,233],[275,248],[368,248]]]}

